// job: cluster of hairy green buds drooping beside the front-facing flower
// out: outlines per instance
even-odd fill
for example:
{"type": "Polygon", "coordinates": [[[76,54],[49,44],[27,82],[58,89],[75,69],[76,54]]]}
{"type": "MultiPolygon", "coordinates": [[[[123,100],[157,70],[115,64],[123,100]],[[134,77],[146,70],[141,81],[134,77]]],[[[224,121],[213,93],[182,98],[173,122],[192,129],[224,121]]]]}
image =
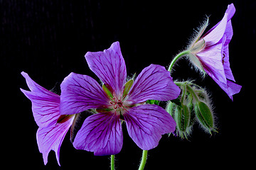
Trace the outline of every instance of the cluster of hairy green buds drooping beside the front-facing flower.
{"type": "Polygon", "coordinates": [[[216,132],[207,92],[190,81],[176,82],[176,85],[181,88],[181,95],[166,106],[166,111],[176,121],[176,135],[188,138],[196,122],[206,132],[216,132]]]}

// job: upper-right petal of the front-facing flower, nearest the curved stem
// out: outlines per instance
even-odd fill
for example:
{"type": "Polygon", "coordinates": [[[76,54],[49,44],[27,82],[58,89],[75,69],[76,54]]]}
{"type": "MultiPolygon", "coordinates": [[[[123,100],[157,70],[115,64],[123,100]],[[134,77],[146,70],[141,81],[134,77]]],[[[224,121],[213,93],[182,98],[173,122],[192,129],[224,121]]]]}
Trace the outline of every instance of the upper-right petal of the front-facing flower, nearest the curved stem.
{"type": "Polygon", "coordinates": [[[139,74],[129,92],[127,101],[142,103],[147,100],[169,101],[181,90],[174,84],[170,72],[160,65],[151,64],[139,74]]]}

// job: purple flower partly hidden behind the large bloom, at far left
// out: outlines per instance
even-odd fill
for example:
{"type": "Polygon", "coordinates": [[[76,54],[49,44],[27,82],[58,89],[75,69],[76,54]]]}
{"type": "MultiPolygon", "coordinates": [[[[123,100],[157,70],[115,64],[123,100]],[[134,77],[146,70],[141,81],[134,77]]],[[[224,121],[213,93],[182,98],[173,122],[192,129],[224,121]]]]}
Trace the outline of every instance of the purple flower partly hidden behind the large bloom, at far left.
{"type": "Polygon", "coordinates": [[[50,150],[54,150],[60,165],[60,145],[68,129],[73,123],[74,115],[60,115],[60,96],[36,84],[28,74],[21,72],[31,91],[21,89],[32,102],[33,117],[39,126],[36,133],[38,149],[43,154],[43,162],[47,164],[50,150]]]}

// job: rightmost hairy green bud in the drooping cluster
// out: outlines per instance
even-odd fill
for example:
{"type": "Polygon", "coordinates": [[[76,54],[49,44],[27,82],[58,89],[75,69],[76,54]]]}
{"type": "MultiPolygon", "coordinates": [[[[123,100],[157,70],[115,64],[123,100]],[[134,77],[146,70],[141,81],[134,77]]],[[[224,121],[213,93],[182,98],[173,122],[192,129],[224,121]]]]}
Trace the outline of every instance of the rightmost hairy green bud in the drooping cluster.
{"type": "Polygon", "coordinates": [[[203,101],[199,101],[195,104],[194,108],[198,123],[200,123],[210,134],[212,130],[215,131],[213,113],[210,110],[210,107],[203,101]]]}

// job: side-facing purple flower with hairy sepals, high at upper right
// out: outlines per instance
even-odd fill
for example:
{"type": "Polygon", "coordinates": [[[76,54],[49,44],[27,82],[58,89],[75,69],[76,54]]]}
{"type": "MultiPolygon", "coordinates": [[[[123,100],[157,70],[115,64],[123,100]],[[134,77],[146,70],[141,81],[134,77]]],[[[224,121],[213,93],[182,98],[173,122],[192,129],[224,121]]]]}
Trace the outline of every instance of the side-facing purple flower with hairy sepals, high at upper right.
{"type": "Polygon", "coordinates": [[[233,82],[229,62],[228,44],[233,36],[231,18],[234,13],[235,6],[230,4],[223,19],[201,37],[207,21],[189,47],[191,62],[206,72],[232,100],[242,88],[233,82]]]}

